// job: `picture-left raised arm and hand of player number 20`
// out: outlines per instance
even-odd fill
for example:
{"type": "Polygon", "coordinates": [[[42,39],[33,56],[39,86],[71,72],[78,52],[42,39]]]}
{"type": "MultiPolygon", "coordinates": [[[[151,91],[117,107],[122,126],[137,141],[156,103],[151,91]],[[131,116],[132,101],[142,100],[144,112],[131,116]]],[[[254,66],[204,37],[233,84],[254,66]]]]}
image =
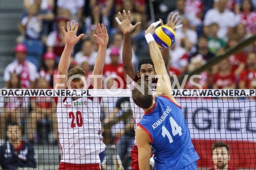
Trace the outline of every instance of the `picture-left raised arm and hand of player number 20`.
{"type": "Polygon", "coordinates": [[[84,36],[84,34],[79,35],[78,37],[76,36],[78,29],[78,23],[76,23],[75,26],[75,21],[73,20],[71,23],[71,29],[69,27],[69,22],[67,22],[67,32],[64,27],[62,27],[62,31],[65,36],[65,48],[61,54],[60,62],[59,62],[59,67],[58,67],[58,78],[57,78],[57,85],[55,88],[58,89],[64,89],[67,87],[67,74],[68,74],[68,68],[70,64],[70,56],[72,49],[74,45],[79,41],[80,38],[84,36]]]}

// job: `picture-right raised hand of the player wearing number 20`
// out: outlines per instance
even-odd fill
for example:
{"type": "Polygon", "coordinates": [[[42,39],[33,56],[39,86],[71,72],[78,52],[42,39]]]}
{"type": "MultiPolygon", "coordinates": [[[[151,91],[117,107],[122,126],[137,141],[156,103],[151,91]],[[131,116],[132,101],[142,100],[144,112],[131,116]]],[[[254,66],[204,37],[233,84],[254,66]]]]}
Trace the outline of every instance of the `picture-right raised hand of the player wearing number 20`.
{"type": "Polygon", "coordinates": [[[96,34],[93,36],[97,39],[97,42],[100,46],[107,46],[108,45],[108,31],[107,28],[103,25],[103,23],[98,23],[98,26],[95,26],[96,34]]]}

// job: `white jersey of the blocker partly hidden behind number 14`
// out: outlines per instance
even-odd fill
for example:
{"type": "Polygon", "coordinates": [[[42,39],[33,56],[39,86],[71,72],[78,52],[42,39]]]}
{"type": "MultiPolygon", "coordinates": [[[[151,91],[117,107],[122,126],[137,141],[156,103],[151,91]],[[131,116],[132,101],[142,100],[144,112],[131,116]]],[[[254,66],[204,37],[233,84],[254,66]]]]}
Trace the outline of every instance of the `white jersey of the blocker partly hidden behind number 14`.
{"type": "MultiPolygon", "coordinates": [[[[135,81],[133,81],[131,84],[126,85],[126,86],[127,86],[127,89],[133,89],[134,86],[135,86],[135,82],[137,82],[137,78],[135,78],[135,81]]],[[[155,82],[157,82],[157,79],[155,80],[155,82]]],[[[154,82],[154,83],[155,83],[155,82],[154,82]]],[[[142,117],[143,117],[145,111],[144,111],[142,108],[138,107],[138,106],[134,103],[132,97],[130,97],[130,103],[131,103],[131,109],[132,109],[132,118],[133,118],[133,124],[134,124],[134,132],[136,132],[136,128],[137,128],[137,126],[138,126],[138,123],[139,123],[140,120],[142,119],[142,117]]],[[[136,138],[135,138],[135,140],[134,140],[134,145],[137,145],[137,143],[136,143],[136,138]]]]}

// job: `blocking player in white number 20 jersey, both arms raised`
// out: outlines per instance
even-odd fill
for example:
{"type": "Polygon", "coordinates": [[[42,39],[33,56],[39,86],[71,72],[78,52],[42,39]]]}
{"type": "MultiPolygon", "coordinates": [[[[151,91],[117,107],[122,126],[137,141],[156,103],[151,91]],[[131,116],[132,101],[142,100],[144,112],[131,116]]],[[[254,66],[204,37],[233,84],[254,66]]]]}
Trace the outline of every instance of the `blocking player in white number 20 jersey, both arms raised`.
{"type": "MultiPolygon", "coordinates": [[[[74,21],[65,34],[66,46],[61,55],[58,67],[58,79],[55,88],[83,89],[87,87],[86,73],[81,68],[68,71],[70,55],[74,45],[83,34],[76,36],[78,23],[74,21]],[[65,78],[59,78],[64,75],[65,78]],[[64,85],[64,86],[61,86],[64,85]]],[[[108,44],[107,29],[103,24],[95,26],[94,37],[99,44],[99,52],[92,72],[92,83],[88,88],[102,88],[102,70],[108,44]]],[[[57,121],[61,161],[59,169],[100,169],[101,155],[105,150],[102,142],[100,123],[100,99],[98,98],[62,98],[57,102],[57,121]]]]}

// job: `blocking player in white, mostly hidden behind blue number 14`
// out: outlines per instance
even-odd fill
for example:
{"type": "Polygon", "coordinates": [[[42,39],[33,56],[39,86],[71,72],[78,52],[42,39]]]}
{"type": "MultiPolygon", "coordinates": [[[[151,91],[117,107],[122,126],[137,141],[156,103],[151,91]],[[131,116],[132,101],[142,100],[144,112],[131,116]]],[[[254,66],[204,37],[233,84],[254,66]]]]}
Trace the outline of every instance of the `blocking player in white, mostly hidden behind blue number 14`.
{"type": "MultiPolygon", "coordinates": [[[[123,15],[121,12],[118,12],[119,18],[121,18],[122,22],[118,22],[121,31],[124,34],[124,44],[123,44],[123,64],[124,64],[124,76],[127,88],[133,89],[134,83],[137,82],[141,77],[151,83],[157,83],[156,72],[154,68],[153,61],[149,58],[145,58],[140,60],[138,64],[138,73],[135,74],[135,70],[132,64],[132,33],[140,25],[140,22],[136,23],[134,26],[131,23],[131,13],[128,11],[128,15],[126,15],[125,10],[123,10],[123,15]]],[[[170,14],[169,22],[165,25],[171,27],[173,30],[176,29],[175,25],[180,20],[180,17],[177,18],[178,13],[174,15],[172,18],[173,12],[170,14]],[[176,19],[177,18],[177,19],[176,19]]],[[[161,19],[160,19],[161,20],[161,19]]],[[[161,26],[163,26],[163,21],[161,20],[161,26]]],[[[161,50],[163,59],[165,61],[165,67],[168,70],[168,62],[169,62],[169,48],[165,48],[161,50]]],[[[169,73],[169,71],[167,71],[169,73]]],[[[153,84],[154,85],[154,84],[153,84]]],[[[154,87],[153,87],[154,88],[154,87]]],[[[132,112],[133,112],[133,123],[134,123],[134,131],[136,131],[136,127],[138,122],[141,120],[144,111],[140,107],[138,107],[130,98],[132,112]]],[[[136,139],[134,141],[134,145],[132,148],[132,163],[131,168],[133,170],[139,170],[138,164],[138,148],[136,144],[136,139]]]]}

